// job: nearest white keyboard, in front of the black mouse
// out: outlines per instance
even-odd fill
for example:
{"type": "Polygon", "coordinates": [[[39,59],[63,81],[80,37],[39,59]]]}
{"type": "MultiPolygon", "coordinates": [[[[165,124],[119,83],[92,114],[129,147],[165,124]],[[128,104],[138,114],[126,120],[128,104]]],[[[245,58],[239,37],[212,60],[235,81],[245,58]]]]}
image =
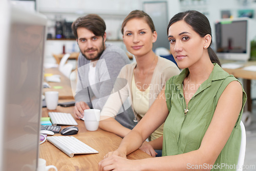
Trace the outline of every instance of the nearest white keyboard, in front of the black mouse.
{"type": "Polygon", "coordinates": [[[69,157],[74,157],[74,154],[99,153],[89,145],[83,143],[73,136],[51,136],[47,137],[47,140],[69,157]]]}

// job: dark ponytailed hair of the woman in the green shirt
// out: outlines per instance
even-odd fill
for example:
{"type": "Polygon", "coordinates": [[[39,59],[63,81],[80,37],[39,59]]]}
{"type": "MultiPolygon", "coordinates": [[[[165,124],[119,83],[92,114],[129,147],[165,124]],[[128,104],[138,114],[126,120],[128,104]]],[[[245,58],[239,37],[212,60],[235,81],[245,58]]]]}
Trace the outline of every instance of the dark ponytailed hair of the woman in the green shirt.
{"type": "MultiPolygon", "coordinates": [[[[180,12],[174,15],[172,19],[170,19],[169,24],[167,26],[167,35],[169,32],[169,27],[180,20],[184,20],[184,22],[186,22],[189,26],[191,26],[193,30],[197,32],[201,37],[204,37],[207,34],[211,36],[211,28],[210,28],[209,20],[204,14],[194,10],[180,12]]],[[[210,45],[211,43],[212,43],[212,40],[210,42],[210,45]]],[[[218,63],[218,65],[221,66],[218,56],[216,55],[214,50],[212,50],[210,47],[208,47],[208,54],[212,63],[218,63]]]]}

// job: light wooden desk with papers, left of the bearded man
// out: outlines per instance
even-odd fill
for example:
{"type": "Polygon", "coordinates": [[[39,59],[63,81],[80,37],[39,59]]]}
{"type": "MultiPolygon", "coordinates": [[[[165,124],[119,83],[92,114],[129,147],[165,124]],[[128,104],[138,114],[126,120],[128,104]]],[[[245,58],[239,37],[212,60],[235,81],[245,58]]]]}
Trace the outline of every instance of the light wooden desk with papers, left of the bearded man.
{"type": "Polygon", "coordinates": [[[60,75],[60,82],[48,82],[51,88],[44,88],[42,91],[57,91],[59,92],[59,99],[74,99],[74,95],[71,88],[71,81],[65,75],[63,75],[58,68],[45,69],[45,74],[51,73],[54,75],[60,75]],[[54,87],[61,86],[62,89],[54,89],[54,87]]]}

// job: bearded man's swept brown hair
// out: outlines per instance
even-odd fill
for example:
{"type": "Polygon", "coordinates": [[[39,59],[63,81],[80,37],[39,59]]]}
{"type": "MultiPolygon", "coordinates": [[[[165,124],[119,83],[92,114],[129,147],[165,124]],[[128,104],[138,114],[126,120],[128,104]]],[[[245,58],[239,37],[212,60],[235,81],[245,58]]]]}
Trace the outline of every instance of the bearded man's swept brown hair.
{"type": "Polygon", "coordinates": [[[97,14],[88,14],[86,16],[79,17],[73,22],[72,30],[76,38],[77,28],[86,28],[95,34],[95,36],[103,36],[106,30],[104,20],[97,14]]]}

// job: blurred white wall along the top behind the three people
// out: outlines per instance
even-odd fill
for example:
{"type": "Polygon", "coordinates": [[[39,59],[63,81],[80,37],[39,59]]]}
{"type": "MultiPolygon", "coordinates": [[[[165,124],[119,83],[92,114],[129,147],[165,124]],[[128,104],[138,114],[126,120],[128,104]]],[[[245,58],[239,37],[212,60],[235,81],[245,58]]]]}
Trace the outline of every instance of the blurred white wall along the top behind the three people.
{"type": "MultiPolygon", "coordinates": [[[[73,21],[78,16],[88,13],[97,13],[105,19],[107,33],[110,39],[120,38],[120,25],[123,18],[132,10],[142,9],[143,2],[156,2],[157,0],[38,0],[38,10],[49,17],[49,26],[54,26],[56,17],[73,21]]],[[[159,0],[162,1],[162,0],[159,0]]],[[[166,0],[168,3],[168,15],[171,18],[174,14],[194,9],[205,13],[212,28],[214,23],[221,18],[221,10],[230,10],[233,17],[238,16],[239,9],[256,9],[256,3],[252,0],[166,0]]],[[[255,11],[256,12],[256,11],[255,11]]],[[[256,17],[254,17],[256,18],[256,17]]],[[[253,26],[255,19],[253,20],[253,26]]],[[[256,30],[256,29],[253,29],[256,30]]],[[[214,32],[214,30],[213,30],[214,32]]],[[[253,33],[252,37],[256,34],[253,33]]]]}

